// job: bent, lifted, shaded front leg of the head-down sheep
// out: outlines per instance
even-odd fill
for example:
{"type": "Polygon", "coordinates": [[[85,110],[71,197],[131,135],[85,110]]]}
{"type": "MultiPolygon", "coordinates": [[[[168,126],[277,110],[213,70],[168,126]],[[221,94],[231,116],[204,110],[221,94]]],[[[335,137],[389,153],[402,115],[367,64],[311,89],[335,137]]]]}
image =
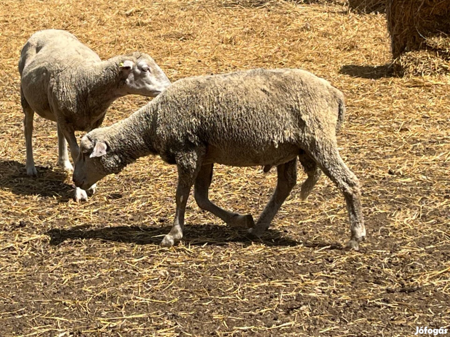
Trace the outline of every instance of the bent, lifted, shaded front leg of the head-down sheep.
{"type": "Polygon", "coordinates": [[[240,215],[231,213],[223,208],[216,206],[209,200],[208,189],[212,180],[212,168],[214,164],[203,165],[198,172],[194,185],[194,197],[198,207],[213,213],[216,217],[220,217],[223,222],[229,226],[253,227],[255,222],[251,214],[240,215]]]}

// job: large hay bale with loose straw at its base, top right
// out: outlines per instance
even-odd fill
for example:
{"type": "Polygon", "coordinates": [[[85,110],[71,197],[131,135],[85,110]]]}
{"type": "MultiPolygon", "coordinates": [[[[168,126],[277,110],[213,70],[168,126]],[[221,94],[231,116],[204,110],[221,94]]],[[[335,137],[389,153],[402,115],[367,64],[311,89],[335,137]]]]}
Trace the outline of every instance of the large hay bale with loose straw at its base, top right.
{"type": "Polygon", "coordinates": [[[387,27],[399,75],[449,73],[450,0],[388,0],[387,27]]]}

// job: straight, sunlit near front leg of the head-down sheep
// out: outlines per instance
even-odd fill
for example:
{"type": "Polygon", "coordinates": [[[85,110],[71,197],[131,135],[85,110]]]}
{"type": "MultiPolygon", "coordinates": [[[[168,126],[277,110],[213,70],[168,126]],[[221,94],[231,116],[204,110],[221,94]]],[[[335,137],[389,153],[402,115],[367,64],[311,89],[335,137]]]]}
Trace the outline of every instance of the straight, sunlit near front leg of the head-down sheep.
{"type": "Polygon", "coordinates": [[[162,239],[161,247],[170,247],[183,238],[184,212],[189,197],[189,191],[200,169],[201,156],[198,152],[180,155],[177,160],[178,184],[176,186],[176,211],[169,234],[162,239]]]}

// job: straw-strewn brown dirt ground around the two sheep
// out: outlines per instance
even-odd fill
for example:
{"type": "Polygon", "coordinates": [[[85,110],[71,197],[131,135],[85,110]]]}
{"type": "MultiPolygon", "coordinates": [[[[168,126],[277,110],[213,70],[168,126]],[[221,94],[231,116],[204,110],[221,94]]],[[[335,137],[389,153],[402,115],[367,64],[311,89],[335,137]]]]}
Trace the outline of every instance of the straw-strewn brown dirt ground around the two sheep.
{"type": "MultiPolygon", "coordinates": [[[[450,80],[395,78],[384,14],[282,1],[18,1],[0,6],[0,335],[409,336],[449,327],[450,80]],[[301,67],[346,96],[338,142],[359,177],[367,239],[349,238],[338,189],[300,184],[260,240],[189,198],[185,237],[158,248],[176,169],[138,160],[85,203],[35,117],[25,174],[17,62],[35,31],[71,31],[102,58],[142,50],[169,78],[301,67]]],[[[104,125],[148,98],[118,99],[104,125]]],[[[81,133],[78,134],[81,136],[81,133]]],[[[211,200],[261,212],[275,169],[217,166],[211,200]]],[[[305,174],[299,169],[299,182],[305,174]]]]}

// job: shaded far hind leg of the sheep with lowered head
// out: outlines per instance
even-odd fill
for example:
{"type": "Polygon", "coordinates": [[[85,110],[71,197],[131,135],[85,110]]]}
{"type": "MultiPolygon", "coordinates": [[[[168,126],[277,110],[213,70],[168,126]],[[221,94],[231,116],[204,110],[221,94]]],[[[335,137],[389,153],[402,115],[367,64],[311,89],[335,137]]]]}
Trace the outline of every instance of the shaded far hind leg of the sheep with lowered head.
{"type": "Polygon", "coordinates": [[[274,194],[262,211],[257,224],[248,230],[252,235],[259,237],[269,228],[270,222],[272,222],[279,208],[284,203],[284,200],[286,200],[297,183],[297,158],[278,165],[277,174],[277,187],[275,188],[274,194]]]}

